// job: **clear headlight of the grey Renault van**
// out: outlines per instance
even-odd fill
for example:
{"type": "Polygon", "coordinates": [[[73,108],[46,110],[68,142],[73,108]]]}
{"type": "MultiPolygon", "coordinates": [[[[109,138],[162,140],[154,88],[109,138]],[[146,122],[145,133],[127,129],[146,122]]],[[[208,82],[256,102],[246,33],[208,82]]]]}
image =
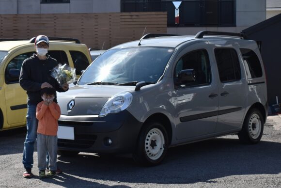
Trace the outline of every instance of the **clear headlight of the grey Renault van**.
{"type": "Polygon", "coordinates": [[[105,116],[109,113],[118,113],[127,109],[133,100],[131,93],[120,93],[109,98],[106,104],[101,109],[99,116],[105,116]]]}

